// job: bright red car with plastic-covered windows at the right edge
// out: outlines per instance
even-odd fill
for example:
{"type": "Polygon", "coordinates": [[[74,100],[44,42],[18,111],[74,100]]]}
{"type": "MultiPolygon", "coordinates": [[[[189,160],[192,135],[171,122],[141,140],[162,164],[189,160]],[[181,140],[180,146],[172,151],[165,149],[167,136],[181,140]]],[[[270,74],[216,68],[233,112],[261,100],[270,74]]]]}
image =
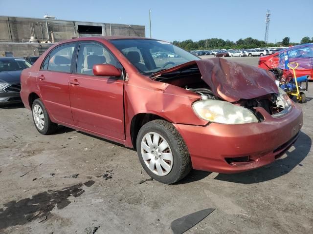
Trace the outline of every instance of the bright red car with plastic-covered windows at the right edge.
{"type": "MultiPolygon", "coordinates": [[[[313,78],[313,43],[289,47],[275,54],[264,56],[259,60],[259,67],[263,69],[281,68],[285,69],[284,52],[288,52],[289,62],[297,62],[299,66],[295,69],[297,77],[310,75],[313,78]]],[[[292,73],[293,74],[293,73],[292,73]]]]}

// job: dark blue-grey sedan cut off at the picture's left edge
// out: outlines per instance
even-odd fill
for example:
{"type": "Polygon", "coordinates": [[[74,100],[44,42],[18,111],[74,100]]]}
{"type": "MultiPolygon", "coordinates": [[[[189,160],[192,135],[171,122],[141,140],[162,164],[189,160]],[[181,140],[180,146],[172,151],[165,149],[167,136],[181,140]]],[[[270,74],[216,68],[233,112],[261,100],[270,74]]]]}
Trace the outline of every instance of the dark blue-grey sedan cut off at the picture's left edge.
{"type": "Polygon", "coordinates": [[[0,105],[21,102],[21,73],[31,64],[25,59],[0,58],[0,105]]]}

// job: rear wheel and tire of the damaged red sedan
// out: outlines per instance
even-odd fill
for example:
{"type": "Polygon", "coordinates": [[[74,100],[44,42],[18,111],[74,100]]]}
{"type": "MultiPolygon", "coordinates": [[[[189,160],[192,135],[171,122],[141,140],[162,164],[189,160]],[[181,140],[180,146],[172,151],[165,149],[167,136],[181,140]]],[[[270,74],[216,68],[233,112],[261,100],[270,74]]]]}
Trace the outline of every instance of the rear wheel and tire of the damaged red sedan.
{"type": "Polygon", "coordinates": [[[51,122],[45,105],[40,99],[36,99],[33,102],[31,110],[33,121],[38,132],[42,135],[49,135],[57,131],[58,124],[51,122]]]}

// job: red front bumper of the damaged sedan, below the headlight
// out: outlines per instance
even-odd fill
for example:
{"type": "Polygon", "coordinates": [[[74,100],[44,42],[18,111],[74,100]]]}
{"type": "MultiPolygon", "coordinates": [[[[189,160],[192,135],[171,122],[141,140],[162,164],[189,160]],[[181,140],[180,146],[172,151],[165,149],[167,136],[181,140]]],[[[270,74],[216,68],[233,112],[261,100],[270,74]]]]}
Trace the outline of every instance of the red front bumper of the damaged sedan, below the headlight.
{"type": "Polygon", "coordinates": [[[282,156],[299,136],[303,124],[301,108],[293,103],[291,111],[278,118],[271,117],[263,108],[257,111],[265,117],[263,122],[174,124],[187,145],[193,168],[239,173],[262,167],[282,156]]]}

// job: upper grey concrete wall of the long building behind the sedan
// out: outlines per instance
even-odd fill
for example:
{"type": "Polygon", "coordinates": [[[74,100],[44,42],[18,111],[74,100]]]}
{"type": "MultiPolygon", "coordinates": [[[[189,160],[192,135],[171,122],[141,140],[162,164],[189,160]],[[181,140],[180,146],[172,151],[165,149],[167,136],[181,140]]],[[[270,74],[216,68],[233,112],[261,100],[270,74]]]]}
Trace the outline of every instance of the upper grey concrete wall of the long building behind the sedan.
{"type": "Polygon", "coordinates": [[[80,34],[78,25],[102,27],[102,35],[145,37],[145,26],[128,24],[94,23],[68,20],[47,20],[23,17],[0,16],[0,41],[28,41],[36,37],[40,41],[51,40],[53,32],[55,42],[92,35],[80,34]],[[47,25],[46,25],[47,22],[47,25]],[[47,34],[47,27],[49,36],[47,34]]]}

